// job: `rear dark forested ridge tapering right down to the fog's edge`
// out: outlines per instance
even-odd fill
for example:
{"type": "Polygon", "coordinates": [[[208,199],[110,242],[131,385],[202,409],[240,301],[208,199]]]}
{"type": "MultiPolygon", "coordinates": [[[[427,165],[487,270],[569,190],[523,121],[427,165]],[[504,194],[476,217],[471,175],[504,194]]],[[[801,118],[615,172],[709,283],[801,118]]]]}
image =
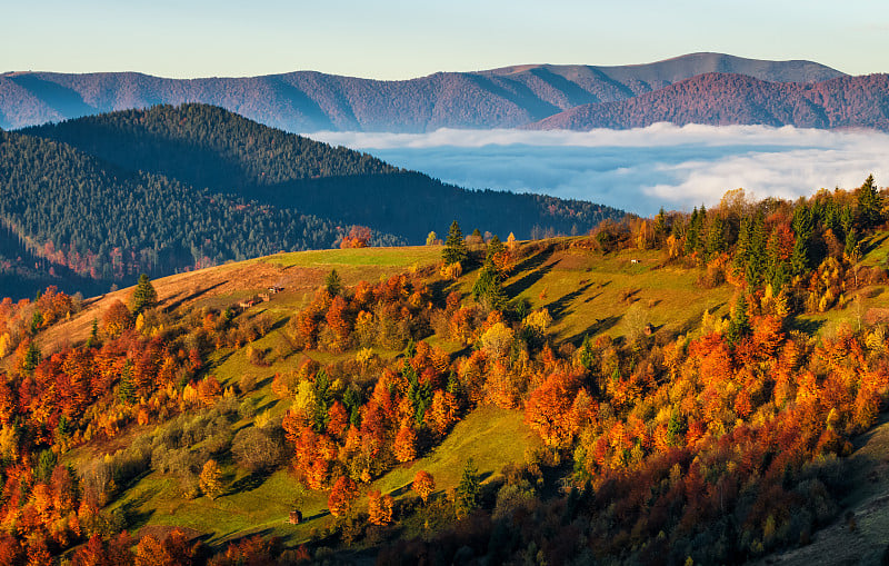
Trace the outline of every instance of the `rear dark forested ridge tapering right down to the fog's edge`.
{"type": "Polygon", "coordinates": [[[126,169],[369,226],[414,244],[455,219],[525,238],[535,227],[541,234],[583,232],[621,215],[583,201],[465,190],[206,105],[113,112],[23,132],[69,143],[126,169]]]}

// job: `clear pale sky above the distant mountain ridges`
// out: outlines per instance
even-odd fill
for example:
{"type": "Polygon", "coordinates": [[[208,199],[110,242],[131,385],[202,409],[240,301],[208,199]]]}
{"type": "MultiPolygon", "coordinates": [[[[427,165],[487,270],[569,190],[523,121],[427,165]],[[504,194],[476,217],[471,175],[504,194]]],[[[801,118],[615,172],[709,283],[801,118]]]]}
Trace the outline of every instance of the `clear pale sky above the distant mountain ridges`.
{"type": "Polygon", "coordinates": [[[695,51],[889,72],[886,0],[2,0],[0,72],[406,79],[695,51]]]}

